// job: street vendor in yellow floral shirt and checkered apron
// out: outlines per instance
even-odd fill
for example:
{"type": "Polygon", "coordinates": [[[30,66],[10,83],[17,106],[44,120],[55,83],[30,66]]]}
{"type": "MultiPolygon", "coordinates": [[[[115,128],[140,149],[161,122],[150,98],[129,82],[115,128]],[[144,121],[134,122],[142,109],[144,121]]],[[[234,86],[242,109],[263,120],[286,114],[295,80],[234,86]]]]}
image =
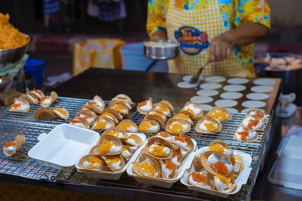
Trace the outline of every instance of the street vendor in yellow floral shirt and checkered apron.
{"type": "Polygon", "coordinates": [[[150,40],[172,40],[181,54],[169,72],[254,77],[254,45],[270,29],[267,0],[148,0],[150,40]]]}

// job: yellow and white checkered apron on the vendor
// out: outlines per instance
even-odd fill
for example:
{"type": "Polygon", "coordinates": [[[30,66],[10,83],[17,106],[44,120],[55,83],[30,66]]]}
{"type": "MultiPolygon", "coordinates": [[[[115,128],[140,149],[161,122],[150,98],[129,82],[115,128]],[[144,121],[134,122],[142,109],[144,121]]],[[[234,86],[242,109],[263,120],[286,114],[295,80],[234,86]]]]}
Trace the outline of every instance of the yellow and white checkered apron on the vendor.
{"type": "MultiPolygon", "coordinates": [[[[227,31],[223,25],[217,0],[209,0],[202,9],[184,10],[175,7],[177,0],[169,1],[166,16],[166,27],[169,40],[177,42],[175,31],[183,26],[194,27],[206,32],[209,42],[219,34],[227,31]]],[[[196,55],[189,55],[181,51],[178,58],[169,60],[169,72],[194,74],[209,58],[209,47],[196,55]]],[[[239,58],[232,53],[231,58],[220,62],[210,63],[202,71],[203,75],[239,76],[246,77],[248,69],[242,66],[239,58]]]]}

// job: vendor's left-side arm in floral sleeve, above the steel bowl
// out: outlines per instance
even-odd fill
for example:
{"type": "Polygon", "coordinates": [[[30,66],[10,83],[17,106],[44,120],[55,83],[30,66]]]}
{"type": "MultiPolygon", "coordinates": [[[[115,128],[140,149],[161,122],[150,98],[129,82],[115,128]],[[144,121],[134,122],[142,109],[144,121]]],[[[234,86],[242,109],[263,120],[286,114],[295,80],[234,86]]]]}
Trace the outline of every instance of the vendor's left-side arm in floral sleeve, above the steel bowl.
{"type": "Polygon", "coordinates": [[[148,1],[146,29],[150,40],[167,40],[166,10],[167,0],[148,1]]]}

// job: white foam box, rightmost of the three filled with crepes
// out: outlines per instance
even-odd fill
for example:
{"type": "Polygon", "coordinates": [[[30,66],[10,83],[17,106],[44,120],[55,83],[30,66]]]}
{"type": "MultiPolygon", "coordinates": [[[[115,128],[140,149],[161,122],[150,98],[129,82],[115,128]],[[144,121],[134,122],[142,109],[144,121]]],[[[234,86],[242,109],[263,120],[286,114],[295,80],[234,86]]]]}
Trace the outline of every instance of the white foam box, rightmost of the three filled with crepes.
{"type": "MultiPolygon", "coordinates": [[[[202,147],[202,148],[198,149],[197,152],[196,152],[196,156],[199,157],[200,153],[206,152],[207,150],[208,150],[208,147],[202,147]]],[[[242,151],[233,150],[233,152],[234,152],[234,154],[239,154],[242,157],[242,160],[244,162],[243,171],[235,179],[235,182],[237,183],[237,187],[233,192],[231,192],[231,193],[222,193],[222,192],[219,192],[219,191],[216,191],[216,190],[210,190],[210,189],[205,189],[205,188],[196,187],[196,186],[191,185],[188,182],[188,175],[191,174],[192,172],[199,171],[199,170],[195,170],[195,167],[192,164],[190,164],[190,167],[186,170],[184,175],[181,177],[180,182],[182,182],[184,185],[186,185],[190,190],[204,192],[204,193],[207,193],[207,194],[216,195],[216,196],[220,196],[220,197],[228,197],[230,194],[236,194],[237,192],[240,191],[242,185],[246,184],[247,181],[248,181],[248,178],[249,178],[249,176],[251,174],[251,171],[252,171],[252,167],[250,167],[250,165],[252,163],[252,157],[249,154],[244,153],[242,151]]]]}

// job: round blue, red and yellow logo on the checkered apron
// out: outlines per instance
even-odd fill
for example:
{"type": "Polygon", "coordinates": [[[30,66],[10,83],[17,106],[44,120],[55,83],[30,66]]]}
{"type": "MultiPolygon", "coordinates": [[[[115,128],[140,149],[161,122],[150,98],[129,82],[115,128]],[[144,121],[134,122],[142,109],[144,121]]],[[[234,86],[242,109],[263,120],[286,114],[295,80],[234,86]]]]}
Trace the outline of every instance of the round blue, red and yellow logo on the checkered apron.
{"type": "Polygon", "coordinates": [[[180,49],[187,55],[197,55],[209,47],[208,35],[194,27],[181,27],[174,33],[180,49]]]}

